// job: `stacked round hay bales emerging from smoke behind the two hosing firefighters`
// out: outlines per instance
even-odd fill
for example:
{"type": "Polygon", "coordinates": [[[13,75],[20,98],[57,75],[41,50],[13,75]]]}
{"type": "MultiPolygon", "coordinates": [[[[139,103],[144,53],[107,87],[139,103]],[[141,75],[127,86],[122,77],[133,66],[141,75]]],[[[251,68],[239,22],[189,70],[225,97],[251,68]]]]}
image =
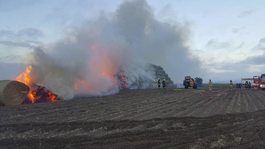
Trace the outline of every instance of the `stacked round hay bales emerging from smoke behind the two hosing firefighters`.
{"type": "Polygon", "coordinates": [[[158,78],[161,80],[161,83],[163,79],[165,79],[166,87],[172,87],[173,81],[168,76],[167,73],[165,73],[165,70],[161,66],[156,66],[154,64],[146,64],[145,71],[152,77],[153,79],[157,80],[158,78]]]}

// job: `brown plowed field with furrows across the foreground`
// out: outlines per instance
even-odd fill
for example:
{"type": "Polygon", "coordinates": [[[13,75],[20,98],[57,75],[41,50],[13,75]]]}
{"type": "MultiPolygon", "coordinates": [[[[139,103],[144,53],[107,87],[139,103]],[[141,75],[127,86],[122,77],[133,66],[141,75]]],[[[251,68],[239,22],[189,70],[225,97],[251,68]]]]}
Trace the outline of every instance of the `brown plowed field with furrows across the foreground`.
{"type": "Polygon", "coordinates": [[[0,147],[265,148],[265,91],[194,91],[1,106],[0,147]]]}

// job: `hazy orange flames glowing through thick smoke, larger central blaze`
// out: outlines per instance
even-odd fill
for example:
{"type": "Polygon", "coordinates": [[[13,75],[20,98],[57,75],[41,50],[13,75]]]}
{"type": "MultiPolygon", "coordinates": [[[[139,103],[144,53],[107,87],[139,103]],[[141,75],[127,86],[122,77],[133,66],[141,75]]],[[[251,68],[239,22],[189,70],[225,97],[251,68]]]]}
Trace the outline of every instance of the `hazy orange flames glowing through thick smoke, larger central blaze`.
{"type": "Polygon", "coordinates": [[[75,82],[76,93],[93,93],[109,91],[118,88],[118,78],[120,61],[117,54],[111,53],[100,46],[91,46],[90,60],[88,62],[89,78],[77,78],[75,82]]]}

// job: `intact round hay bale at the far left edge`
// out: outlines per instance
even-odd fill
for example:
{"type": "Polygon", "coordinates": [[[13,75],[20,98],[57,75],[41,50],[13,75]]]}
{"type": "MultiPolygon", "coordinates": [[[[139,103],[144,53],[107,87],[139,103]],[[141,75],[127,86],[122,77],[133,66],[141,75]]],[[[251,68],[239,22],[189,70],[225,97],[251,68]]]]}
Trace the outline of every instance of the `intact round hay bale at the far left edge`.
{"type": "Polygon", "coordinates": [[[21,105],[29,90],[26,84],[19,81],[0,81],[0,105],[21,105]]]}

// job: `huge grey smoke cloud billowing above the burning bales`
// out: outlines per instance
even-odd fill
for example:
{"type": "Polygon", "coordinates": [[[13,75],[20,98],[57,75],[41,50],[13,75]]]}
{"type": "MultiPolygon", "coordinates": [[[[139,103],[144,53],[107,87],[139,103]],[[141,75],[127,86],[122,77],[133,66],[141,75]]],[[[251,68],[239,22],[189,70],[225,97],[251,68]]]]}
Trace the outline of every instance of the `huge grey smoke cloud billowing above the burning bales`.
{"type": "Polygon", "coordinates": [[[152,79],[144,71],[146,63],[183,80],[200,71],[197,58],[185,46],[188,33],[187,24],[158,21],[145,0],[125,1],[110,18],[102,13],[48,49],[35,48],[30,63],[33,81],[71,99],[77,93],[118,92],[114,76],[120,70],[129,88],[148,87],[152,79]]]}

